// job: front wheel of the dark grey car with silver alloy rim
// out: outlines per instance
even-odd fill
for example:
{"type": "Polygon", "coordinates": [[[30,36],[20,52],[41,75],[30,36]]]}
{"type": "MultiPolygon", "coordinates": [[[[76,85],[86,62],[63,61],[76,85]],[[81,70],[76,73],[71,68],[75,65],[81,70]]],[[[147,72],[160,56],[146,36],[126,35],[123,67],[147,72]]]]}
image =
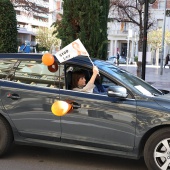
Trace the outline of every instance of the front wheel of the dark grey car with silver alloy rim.
{"type": "Polygon", "coordinates": [[[149,170],[168,170],[170,167],[170,128],[153,133],[144,148],[144,160],[149,170]]]}

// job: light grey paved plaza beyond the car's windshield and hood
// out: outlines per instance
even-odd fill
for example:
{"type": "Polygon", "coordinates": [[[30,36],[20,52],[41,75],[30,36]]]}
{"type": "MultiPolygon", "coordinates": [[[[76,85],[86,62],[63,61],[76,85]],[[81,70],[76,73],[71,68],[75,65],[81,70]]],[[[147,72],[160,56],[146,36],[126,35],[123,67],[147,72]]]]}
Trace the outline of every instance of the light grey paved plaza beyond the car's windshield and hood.
{"type": "MultiPolygon", "coordinates": [[[[129,71],[130,73],[137,75],[136,65],[120,64],[119,67],[129,71]]],[[[170,91],[170,69],[168,66],[163,68],[163,74],[160,75],[160,66],[146,65],[145,81],[158,89],[164,89],[170,91]]]]}

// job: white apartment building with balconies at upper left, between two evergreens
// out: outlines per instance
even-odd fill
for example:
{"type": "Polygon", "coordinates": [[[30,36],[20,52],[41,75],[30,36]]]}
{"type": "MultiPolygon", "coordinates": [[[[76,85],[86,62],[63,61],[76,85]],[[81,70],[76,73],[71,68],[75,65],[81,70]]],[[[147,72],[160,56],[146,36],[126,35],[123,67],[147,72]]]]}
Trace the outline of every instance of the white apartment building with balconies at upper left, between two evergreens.
{"type": "Polygon", "coordinates": [[[62,0],[28,0],[35,8],[44,12],[30,12],[26,8],[19,7],[15,0],[11,0],[15,6],[18,27],[18,42],[20,44],[25,41],[35,45],[35,37],[39,28],[48,28],[56,21],[58,13],[62,13],[62,0]]]}

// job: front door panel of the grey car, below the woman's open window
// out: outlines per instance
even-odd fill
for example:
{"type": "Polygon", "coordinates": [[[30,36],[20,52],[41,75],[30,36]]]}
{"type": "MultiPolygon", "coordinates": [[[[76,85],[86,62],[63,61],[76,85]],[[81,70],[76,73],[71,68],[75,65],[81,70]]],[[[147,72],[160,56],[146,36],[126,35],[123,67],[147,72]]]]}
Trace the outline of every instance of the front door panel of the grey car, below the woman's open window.
{"type": "Polygon", "coordinates": [[[73,110],[61,117],[61,141],[113,150],[132,150],[135,140],[136,101],[107,95],[60,90],[61,100],[73,110]]]}

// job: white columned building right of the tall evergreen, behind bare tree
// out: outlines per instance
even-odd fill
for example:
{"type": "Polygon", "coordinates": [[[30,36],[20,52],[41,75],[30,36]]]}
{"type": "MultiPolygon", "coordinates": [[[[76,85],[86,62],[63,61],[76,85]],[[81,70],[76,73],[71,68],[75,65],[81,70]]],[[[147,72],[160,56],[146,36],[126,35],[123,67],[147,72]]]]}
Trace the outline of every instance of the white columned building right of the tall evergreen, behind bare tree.
{"type": "MultiPolygon", "coordinates": [[[[154,4],[149,4],[149,12],[155,23],[154,29],[163,28],[165,2],[167,1],[166,9],[170,9],[170,0],[156,0],[154,4]]],[[[170,18],[166,17],[165,29],[170,31],[170,18]]],[[[134,61],[135,56],[138,56],[138,40],[139,28],[134,24],[109,22],[108,23],[108,57],[116,56],[117,51],[121,56],[134,61]]],[[[169,45],[165,44],[165,55],[169,53],[169,45]]],[[[147,52],[150,52],[151,47],[148,46],[147,52]]],[[[164,56],[165,56],[164,55],[164,56]]]]}

